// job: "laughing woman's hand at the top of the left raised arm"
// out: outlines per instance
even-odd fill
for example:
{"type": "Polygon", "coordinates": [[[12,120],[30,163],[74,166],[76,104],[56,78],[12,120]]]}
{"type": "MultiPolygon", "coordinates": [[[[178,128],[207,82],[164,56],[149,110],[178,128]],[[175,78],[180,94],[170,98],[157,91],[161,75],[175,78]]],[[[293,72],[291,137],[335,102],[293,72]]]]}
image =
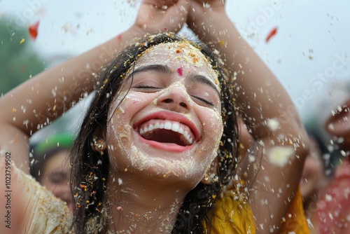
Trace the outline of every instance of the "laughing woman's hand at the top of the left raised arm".
{"type": "Polygon", "coordinates": [[[189,8],[188,0],[144,0],[134,27],[148,34],[178,32],[187,20],[189,8]]]}

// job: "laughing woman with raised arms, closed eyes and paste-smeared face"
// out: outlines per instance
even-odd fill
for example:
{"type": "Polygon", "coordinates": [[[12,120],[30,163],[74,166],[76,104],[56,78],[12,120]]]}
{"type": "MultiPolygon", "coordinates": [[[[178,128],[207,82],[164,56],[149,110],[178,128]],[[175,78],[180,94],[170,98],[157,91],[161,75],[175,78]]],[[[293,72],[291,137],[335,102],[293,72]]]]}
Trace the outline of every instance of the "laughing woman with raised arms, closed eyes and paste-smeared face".
{"type": "MultiPolygon", "coordinates": [[[[10,228],[2,225],[1,233],[281,231],[307,138],[297,116],[286,116],[292,102],[239,39],[223,1],[205,3],[144,1],[125,33],[1,97],[0,169],[11,172],[10,188],[0,181],[1,193],[11,191],[10,208],[0,212],[10,214],[10,228]],[[186,21],[214,48],[159,33],[186,21]],[[27,165],[9,161],[25,161],[42,120],[57,118],[95,83],[71,151],[71,217],[64,202],[25,175],[27,165]],[[53,89],[64,98],[52,97],[53,89]],[[237,109],[258,142],[246,162],[238,162],[237,109]]],[[[8,203],[3,194],[0,203],[8,203]]]]}

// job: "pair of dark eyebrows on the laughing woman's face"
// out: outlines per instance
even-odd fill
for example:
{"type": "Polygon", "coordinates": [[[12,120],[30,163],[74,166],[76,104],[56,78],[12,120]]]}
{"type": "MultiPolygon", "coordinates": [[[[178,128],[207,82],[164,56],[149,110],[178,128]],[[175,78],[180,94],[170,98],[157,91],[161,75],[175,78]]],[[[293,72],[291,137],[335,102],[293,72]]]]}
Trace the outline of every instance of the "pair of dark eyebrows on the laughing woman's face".
{"type": "MultiPolygon", "coordinates": [[[[138,74],[138,73],[144,72],[144,71],[158,71],[158,72],[161,72],[163,74],[173,74],[174,73],[174,71],[172,71],[172,69],[170,67],[168,67],[167,65],[152,64],[152,65],[146,65],[146,66],[142,66],[142,67],[139,67],[137,69],[134,69],[134,71],[132,71],[132,73],[129,75],[128,78],[130,78],[131,76],[134,76],[134,74],[138,74]]],[[[218,96],[220,97],[220,92],[218,91],[218,88],[216,88],[214,83],[211,82],[209,78],[202,76],[202,75],[197,75],[197,74],[191,75],[188,78],[190,79],[190,81],[204,83],[206,85],[211,86],[211,88],[214,88],[214,90],[216,90],[216,92],[218,93],[218,96]]]]}

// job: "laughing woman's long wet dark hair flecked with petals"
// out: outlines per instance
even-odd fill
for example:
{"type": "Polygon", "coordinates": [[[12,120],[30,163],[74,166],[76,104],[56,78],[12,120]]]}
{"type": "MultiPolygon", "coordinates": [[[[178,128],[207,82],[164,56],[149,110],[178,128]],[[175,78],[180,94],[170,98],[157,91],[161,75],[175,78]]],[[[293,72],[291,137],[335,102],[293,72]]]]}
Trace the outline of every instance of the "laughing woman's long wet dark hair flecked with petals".
{"type": "MultiPolygon", "coordinates": [[[[71,185],[76,201],[73,228],[77,233],[87,233],[89,219],[94,219],[97,233],[106,233],[109,221],[109,207],[106,207],[106,188],[108,186],[109,169],[111,167],[108,152],[101,156],[92,150],[94,135],[104,132],[109,121],[109,111],[114,97],[126,82],[126,74],[133,69],[138,57],[152,46],[160,43],[188,41],[171,33],[145,36],[144,39],[128,46],[116,60],[107,67],[102,76],[101,87],[96,92],[90,109],[87,111],[80,132],[71,151],[71,185]]],[[[218,149],[218,179],[207,185],[199,183],[183,200],[183,205],[176,218],[172,233],[204,233],[210,228],[211,208],[223,186],[228,184],[236,171],[239,156],[238,127],[232,85],[228,72],[221,68],[215,50],[211,50],[200,42],[190,42],[198,48],[218,71],[221,85],[221,109],[223,118],[223,135],[218,149]],[[204,224],[205,222],[205,224],[204,224]]],[[[110,215],[112,216],[112,215],[110,215]]]]}

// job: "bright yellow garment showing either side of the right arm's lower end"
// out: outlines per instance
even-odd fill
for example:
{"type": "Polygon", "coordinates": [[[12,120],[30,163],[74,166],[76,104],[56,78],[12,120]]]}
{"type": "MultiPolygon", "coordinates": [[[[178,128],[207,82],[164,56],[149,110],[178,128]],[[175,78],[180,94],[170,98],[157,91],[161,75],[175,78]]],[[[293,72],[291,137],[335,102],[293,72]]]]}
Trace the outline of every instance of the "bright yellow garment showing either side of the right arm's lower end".
{"type": "MultiPolygon", "coordinates": [[[[279,233],[309,234],[300,189],[297,190],[283,220],[279,233]]],[[[227,191],[216,201],[211,234],[223,233],[256,233],[253,211],[244,193],[227,191]]]]}

